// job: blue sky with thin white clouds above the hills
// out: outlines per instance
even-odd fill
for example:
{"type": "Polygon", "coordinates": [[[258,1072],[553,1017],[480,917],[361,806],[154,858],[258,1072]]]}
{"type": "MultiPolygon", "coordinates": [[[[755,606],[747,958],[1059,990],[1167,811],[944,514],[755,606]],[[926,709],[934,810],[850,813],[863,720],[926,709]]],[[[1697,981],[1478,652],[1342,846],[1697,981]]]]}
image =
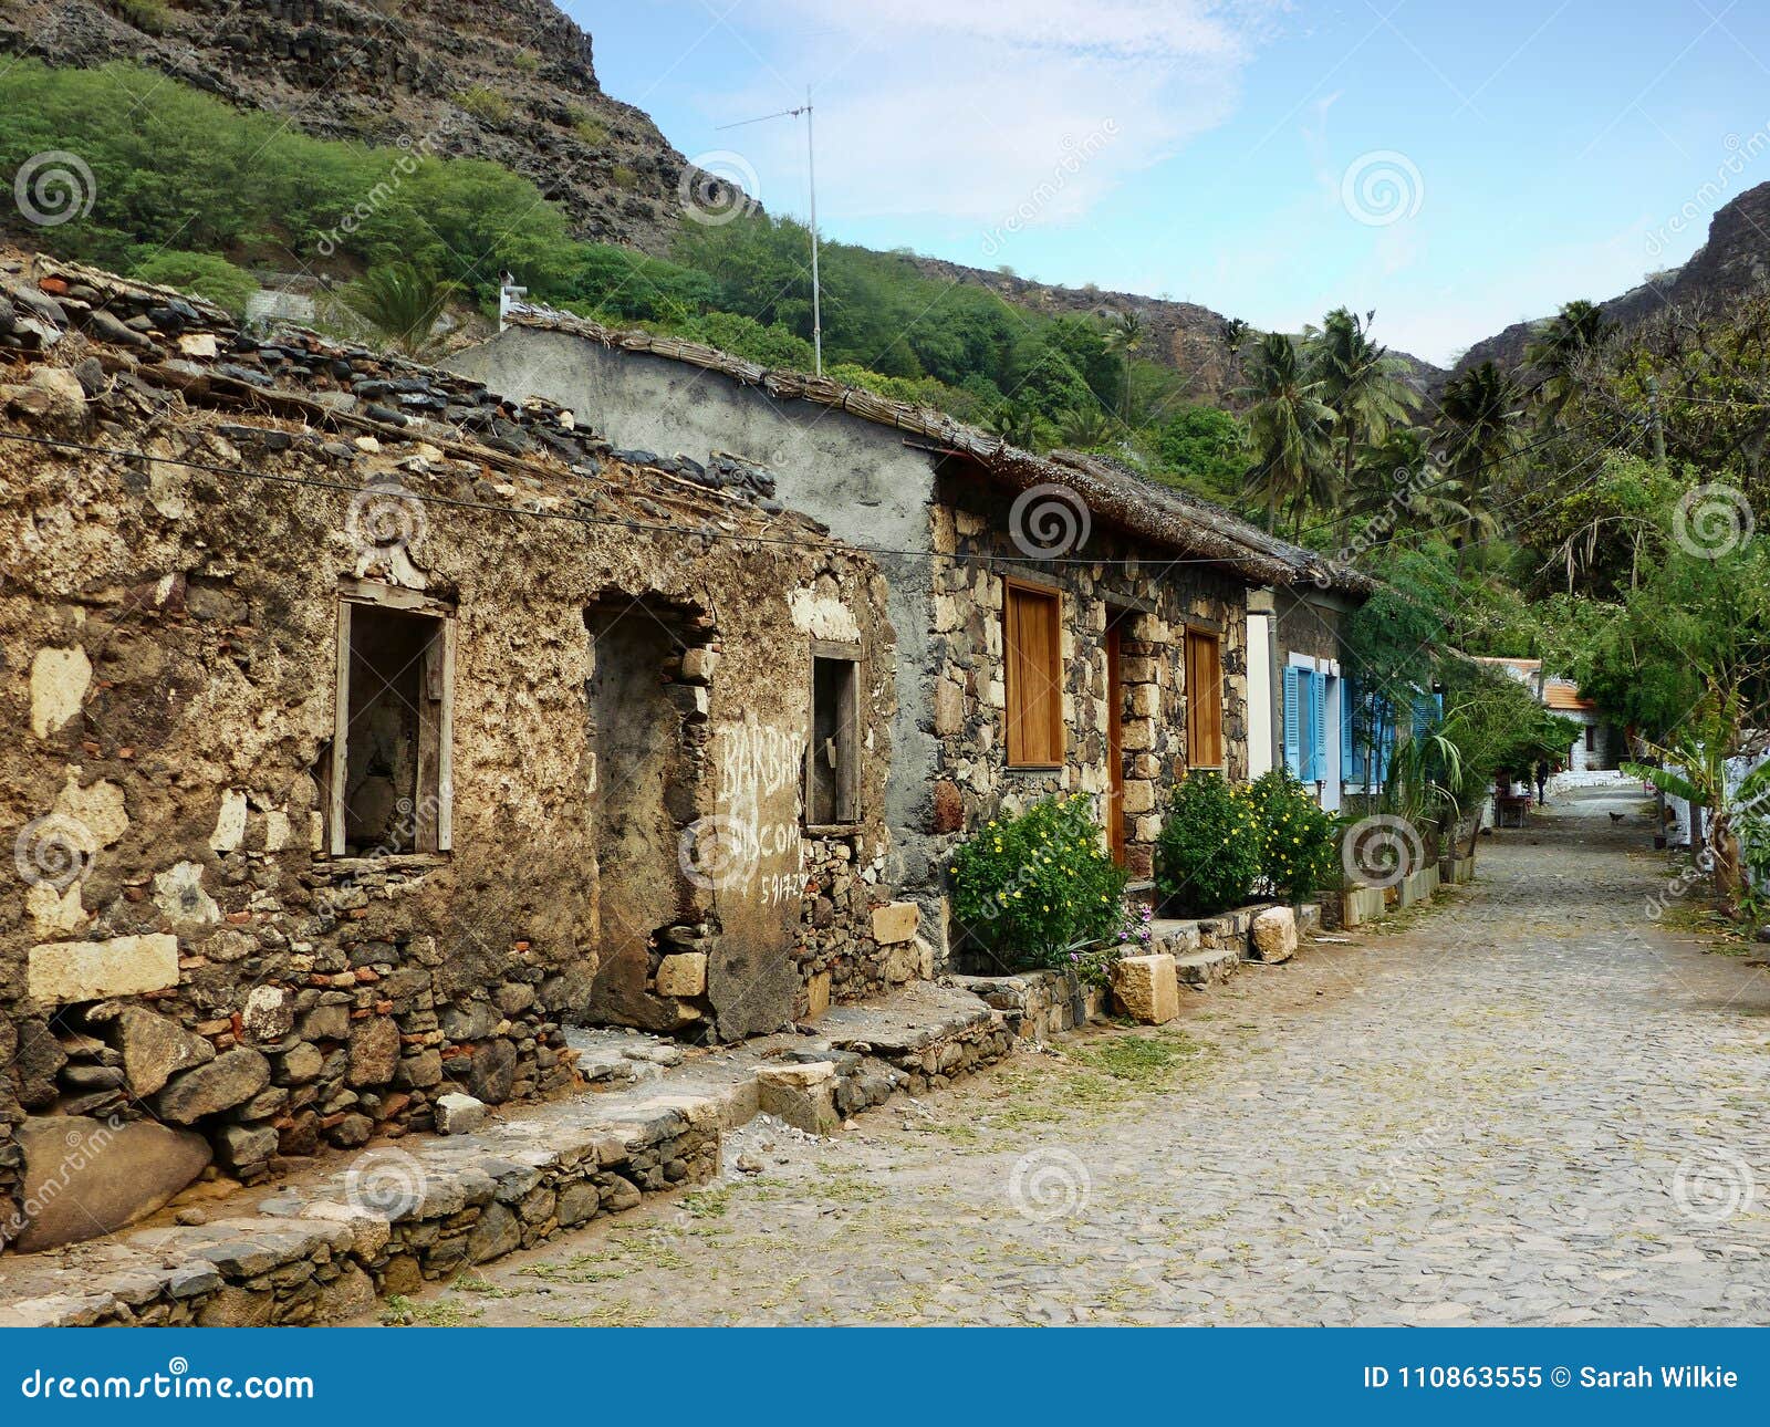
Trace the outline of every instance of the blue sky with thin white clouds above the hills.
{"type": "MultiPolygon", "coordinates": [[[[1758,0],[568,0],[602,87],[825,234],[1448,361],[1770,181],[1758,0]]],[[[1766,243],[1770,246],[1770,243],[1766,243]]]]}

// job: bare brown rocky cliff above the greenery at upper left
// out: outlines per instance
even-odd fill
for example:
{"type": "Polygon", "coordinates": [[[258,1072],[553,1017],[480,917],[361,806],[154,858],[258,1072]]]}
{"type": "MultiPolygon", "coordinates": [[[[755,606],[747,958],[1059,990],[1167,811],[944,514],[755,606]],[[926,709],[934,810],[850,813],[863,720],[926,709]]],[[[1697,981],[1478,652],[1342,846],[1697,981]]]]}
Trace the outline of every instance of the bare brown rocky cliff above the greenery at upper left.
{"type": "Polygon", "coordinates": [[[681,207],[683,156],[602,92],[547,0],[7,0],[0,50],[136,60],[320,138],[492,159],[604,243],[660,251],[681,207]]]}

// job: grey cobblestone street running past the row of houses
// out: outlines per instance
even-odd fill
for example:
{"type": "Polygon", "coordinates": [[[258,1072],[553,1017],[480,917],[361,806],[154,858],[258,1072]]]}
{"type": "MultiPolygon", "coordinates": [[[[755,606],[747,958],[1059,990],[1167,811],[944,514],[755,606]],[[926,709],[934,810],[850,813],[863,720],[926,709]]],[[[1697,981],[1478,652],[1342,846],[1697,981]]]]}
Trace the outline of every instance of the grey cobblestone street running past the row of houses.
{"type": "Polygon", "coordinates": [[[1161,1032],[1021,1052],[834,1140],[756,1122],[715,1184],[409,1312],[1765,1323],[1770,981],[1651,926],[1639,806],[1563,797],[1483,839],[1473,889],[1248,965],[1161,1032]]]}

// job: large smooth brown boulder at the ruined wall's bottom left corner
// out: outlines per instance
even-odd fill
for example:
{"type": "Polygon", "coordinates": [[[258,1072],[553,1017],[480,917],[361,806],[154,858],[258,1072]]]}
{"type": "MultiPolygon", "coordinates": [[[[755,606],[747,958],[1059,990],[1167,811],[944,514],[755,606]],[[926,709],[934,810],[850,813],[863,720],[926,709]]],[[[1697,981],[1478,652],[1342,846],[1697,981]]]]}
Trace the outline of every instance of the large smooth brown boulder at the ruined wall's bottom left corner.
{"type": "MultiPolygon", "coordinates": [[[[34,1115],[14,1131],[25,1154],[23,1227],[35,1253],[112,1234],[154,1213],[209,1165],[209,1142],[152,1121],[112,1126],[80,1115],[34,1115]]],[[[0,1238],[12,1225],[0,1223],[0,1238]]]]}

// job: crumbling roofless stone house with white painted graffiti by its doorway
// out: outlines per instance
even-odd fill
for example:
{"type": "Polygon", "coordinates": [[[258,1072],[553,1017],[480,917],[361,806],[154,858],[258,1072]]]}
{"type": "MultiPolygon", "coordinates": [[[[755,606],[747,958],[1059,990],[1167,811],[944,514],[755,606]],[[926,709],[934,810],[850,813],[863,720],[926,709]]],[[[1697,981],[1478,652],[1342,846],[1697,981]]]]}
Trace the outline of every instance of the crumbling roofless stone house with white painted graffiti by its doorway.
{"type": "Polygon", "coordinates": [[[719,469],[0,264],[0,1238],[915,974],[881,572],[719,469]]]}

